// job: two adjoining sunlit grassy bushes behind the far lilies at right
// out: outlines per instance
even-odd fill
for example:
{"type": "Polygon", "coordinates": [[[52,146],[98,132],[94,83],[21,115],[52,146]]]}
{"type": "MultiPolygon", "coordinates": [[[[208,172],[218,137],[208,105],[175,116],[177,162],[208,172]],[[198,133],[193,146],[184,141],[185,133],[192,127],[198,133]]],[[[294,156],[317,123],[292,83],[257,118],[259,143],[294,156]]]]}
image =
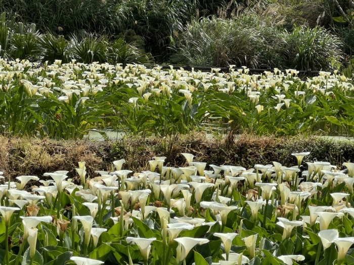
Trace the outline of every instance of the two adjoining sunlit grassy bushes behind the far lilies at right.
{"type": "Polygon", "coordinates": [[[323,28],[288,32],[255,14],[192,21],[178,40],[179,58],[193,66],[329,70],[342,57],[339,38],[323,28]]]}

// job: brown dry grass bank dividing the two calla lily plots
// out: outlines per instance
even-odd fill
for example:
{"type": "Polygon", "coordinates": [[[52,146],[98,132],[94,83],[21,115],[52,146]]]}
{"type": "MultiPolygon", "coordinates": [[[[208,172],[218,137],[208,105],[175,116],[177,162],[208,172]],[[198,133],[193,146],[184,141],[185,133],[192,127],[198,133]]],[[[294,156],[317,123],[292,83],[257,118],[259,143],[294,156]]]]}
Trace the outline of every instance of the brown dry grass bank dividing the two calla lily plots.
{"type": "MultiPolygon", "coordinates": [[[[86,162],[90,177],[96,170],[112,170],[112,162],[124,158],[123,169],[134,172],[149,170],[153,156],[166,156],[165,166],[183,167],[187,162],[181,152],[193,153],[194,161],[208,165],[238,165],[252,168],[255,164],[280,162],[284,166],[296,163],[294,152],[309,151],[307,161],[328,161],[341,166],[354,161],[354,142],[320,137],[257,137],[243,134],[230,141],[227,137],[207,138],[205,133],[175,135],[172,137],[124,137],[115,142],[52,141],[29,138],[0,137],[0,171],[6,177],[20,175],[41,177],[43,173],[69,171],[70,178],[78,179],[75,168],[86,162]]],[[[306,165],[304,164],[304,167],[306,165]]]]}

